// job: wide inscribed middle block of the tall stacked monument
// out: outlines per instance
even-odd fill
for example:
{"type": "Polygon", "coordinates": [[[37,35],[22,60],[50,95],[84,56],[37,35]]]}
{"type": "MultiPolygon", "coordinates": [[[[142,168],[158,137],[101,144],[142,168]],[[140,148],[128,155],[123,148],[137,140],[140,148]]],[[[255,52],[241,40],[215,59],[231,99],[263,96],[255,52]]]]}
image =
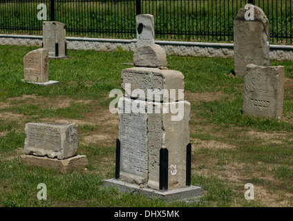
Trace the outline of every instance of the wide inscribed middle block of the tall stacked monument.
{"type": "Polygon", "coordinates": [[[140,97],[141,99],[144,97],[146,100],[160,102],[184,100],[185,77],[178,70],[142,67],[126,68],[122,70],[121,79],[121,86],[125,90],[126,97],[140,97]],[[138,90],[142,90],[144,95],[136,93],[139,92],[138,90]]]}

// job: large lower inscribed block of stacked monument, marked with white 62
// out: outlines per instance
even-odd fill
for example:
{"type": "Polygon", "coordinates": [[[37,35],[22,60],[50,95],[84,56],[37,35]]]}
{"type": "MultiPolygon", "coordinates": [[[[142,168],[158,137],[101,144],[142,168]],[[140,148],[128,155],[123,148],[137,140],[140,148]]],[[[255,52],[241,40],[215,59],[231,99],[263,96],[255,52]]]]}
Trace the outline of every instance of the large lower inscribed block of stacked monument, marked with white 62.
{"type": "Polygon", "coordinates": [[[122,107],[118,112],[120,180],[160,190],[160,150],[164,148],[168,152],[167,189],[185,187],[190,103],[145,102],[122,97],[118,108],[122,107]],[[133,105],[131,112],[126,113],[129,104],[133,105]],[[147,110],[149,105],[153,113],[147,110]],[[178,113],[171,108],[178,108],[178,113]]]}

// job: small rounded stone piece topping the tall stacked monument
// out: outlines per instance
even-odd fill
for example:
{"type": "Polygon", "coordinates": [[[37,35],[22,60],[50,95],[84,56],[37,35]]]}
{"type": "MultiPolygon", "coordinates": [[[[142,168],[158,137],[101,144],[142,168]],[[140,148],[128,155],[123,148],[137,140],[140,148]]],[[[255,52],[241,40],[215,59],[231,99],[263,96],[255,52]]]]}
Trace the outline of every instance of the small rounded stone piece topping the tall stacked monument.
{"type": "Polygon", "coordinates": [[[158,68],[167,66],[166,52],[158,44],[147,44],[137,48],[133,55],[133,64],[137,67],[158,68]]]}

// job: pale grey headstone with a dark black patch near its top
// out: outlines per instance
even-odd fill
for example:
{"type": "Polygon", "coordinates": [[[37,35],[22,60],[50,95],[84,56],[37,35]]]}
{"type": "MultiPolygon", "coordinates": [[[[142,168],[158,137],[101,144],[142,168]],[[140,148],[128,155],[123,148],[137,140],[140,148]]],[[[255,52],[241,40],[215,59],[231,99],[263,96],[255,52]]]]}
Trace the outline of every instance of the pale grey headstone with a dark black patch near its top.
{"type": "Polygon", "coordinates": [[[155,21],[153,15],[136,16],[136,35],[138,48],[146,44],[155,44],[155,21]]]}

